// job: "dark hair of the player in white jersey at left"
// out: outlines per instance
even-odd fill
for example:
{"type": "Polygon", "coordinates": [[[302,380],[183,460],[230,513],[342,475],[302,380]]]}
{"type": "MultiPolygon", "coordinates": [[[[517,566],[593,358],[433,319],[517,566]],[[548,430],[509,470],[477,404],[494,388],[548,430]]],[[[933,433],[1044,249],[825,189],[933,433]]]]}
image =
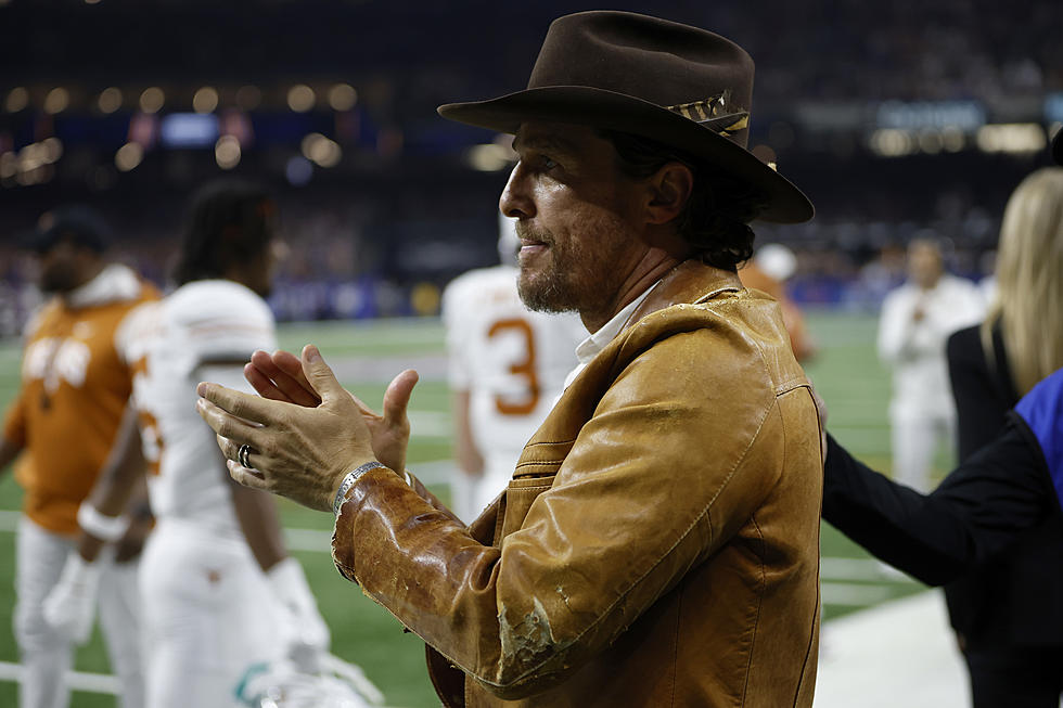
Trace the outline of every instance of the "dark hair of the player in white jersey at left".
{"type": "Polygon", "coordinates": [[[185,217],[174,280],[223,278],[230,265],[258,257],[274,235],[276,210],[266,190],[251,182],[219,180],[201,189],[185,217]]]}

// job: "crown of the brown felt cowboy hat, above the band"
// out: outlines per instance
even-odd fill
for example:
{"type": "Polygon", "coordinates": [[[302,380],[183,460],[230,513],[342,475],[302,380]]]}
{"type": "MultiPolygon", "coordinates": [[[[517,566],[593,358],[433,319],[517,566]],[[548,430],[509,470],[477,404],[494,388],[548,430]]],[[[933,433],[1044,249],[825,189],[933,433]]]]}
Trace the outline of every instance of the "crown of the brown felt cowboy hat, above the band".
{"type": "MultiPolygon", "coordinates": [[[[581,86],[613,91],[680,112],[715,102],[716,111],[748,112],[753,59],[731,40],[697,27],[629,12],[580,12],[547,31],[528,89],[581,86]],[[721,101],[723,105],[720,105],[721,101]]],[[[687,117],[699,119],[697,111],[687,117]]],[[[729,136],[745,144],[746,130],[729,136]]]]}

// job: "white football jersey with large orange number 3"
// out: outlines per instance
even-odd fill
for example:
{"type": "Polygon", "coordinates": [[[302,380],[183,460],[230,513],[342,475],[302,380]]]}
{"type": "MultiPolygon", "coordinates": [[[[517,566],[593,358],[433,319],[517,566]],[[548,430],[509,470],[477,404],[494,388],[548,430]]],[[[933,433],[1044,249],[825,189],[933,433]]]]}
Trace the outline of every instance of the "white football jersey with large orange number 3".
{"type": "Polygon", "coordinates": [[[587,337],[575,314],[528,311],[516,276],[512,266],[473,270],[443,296],[450,386],[470,391],[473,439],[486,472],[507,477],[561,396],[577,363],[576,345],[587,337]]]}

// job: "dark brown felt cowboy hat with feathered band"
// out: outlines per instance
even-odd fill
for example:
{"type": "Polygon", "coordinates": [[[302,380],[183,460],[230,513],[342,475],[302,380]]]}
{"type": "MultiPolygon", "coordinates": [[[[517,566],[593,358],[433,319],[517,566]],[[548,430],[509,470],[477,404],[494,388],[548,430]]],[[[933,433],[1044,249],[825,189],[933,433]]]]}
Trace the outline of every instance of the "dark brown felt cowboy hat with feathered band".
{"type": "Polygon", "coordinates": [[[580,12],[547,31],[528,88],[439,106],[451,120],[515,133],[529,119],[619,130],[678,147],[768,196],[759,218],[812,218],[801,190],[746,150],[753,60],[704,29],[629,12],[580,12]]]}

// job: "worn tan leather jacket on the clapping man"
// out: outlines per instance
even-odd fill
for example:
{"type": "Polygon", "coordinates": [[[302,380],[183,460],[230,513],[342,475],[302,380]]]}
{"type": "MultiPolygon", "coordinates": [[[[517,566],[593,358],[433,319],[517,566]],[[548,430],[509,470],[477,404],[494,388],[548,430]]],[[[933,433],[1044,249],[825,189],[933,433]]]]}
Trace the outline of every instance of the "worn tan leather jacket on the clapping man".
{"type": "Polygon", "coordinates": [[[386,469],[344,504],[337,567],[448,706],[811,705],[819,420],[779,308],[688,261],[631,321],[469,529],[386,469]]]}

